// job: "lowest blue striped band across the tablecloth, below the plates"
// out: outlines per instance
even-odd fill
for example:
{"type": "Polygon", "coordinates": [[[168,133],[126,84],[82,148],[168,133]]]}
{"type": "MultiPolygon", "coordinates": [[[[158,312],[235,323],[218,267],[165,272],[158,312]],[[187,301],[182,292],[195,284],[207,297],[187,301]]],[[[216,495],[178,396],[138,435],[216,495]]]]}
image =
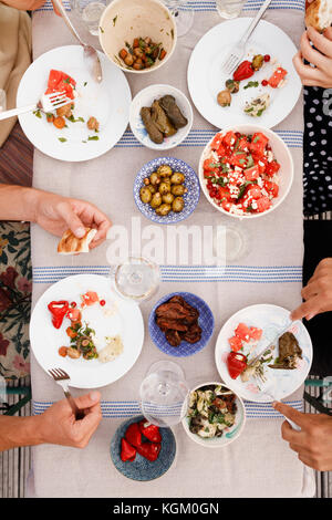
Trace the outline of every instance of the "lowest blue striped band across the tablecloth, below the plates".
{"type": "MultiPolygon", "coordinates": [[[[262,419],[262,418],[281,418],[282,415],[277,412],[269,403],[251,403],[245,401],[246,415],[249,419],[262,419]]],[[[303,412],[303,401],[283,401],[283,403],[292,406],[299,412],[303,412]]],[[[33,415],[40,415],[48,409],[53,403],[52,402],[32,402],[33,415]]],[[[125,418],[133,417],[142,414],[139,403],[137,401],[127,402],[115,402],[115,401],[103,401],[101,403],[102,414],[104,418],[125,418]]]]}

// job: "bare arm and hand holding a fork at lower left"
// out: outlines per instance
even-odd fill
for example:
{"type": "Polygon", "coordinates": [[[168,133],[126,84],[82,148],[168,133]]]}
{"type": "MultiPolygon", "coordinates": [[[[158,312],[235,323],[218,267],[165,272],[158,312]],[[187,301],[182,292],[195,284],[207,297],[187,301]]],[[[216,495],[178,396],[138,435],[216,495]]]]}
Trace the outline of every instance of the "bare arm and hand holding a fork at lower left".
{"type": "Polygon", "coordinates": [[[84,448],[102,418],[100,393],[76,397],[75,402],[84,410],[82,420],[75,420],[66,399],[59,401],[42,415],[0,416],[0,451],[45,443],[84,448]]]}

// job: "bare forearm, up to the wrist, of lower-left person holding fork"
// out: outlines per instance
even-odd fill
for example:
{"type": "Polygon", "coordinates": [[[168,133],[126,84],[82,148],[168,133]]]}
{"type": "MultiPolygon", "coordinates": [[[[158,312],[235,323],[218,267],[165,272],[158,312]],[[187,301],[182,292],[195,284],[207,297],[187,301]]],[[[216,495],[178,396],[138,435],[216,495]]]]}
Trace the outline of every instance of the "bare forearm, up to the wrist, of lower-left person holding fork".
{"type": "Polygon", "coordinates": [[[42,443],[39,417],[0,416],[0,451],[42,443]]]}

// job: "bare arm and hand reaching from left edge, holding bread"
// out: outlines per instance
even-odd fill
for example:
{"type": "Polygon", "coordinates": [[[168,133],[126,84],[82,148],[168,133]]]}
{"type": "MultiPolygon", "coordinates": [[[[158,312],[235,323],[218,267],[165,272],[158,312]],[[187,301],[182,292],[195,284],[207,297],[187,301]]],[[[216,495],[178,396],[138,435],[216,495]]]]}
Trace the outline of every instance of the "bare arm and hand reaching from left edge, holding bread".
{"type": "Polygon", "coordinates": [[[9,185],[0,185],[0,220],[29,220],[59,237],[70,228],[82,238],[85,226],[95,228],[91,249],[105,240],[111,227],[106,215],[85,200],[9,185]]]}

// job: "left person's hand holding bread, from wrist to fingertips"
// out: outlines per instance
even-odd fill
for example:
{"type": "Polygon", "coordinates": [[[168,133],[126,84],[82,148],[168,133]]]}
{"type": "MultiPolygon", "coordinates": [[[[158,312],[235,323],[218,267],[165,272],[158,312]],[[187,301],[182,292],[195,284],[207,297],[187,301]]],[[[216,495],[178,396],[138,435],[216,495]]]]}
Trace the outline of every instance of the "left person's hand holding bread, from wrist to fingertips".
{"type": "Polygon", "coordinates": [[[33,195],[33,221],[46,231],[61,237],[70,228],[77,238],[82,238],[85,227],[95,228],[97,232],[90,243],[91,249],[105,240],[111,220],[94,205],[48,191],[34,190],[33,195]]]}

